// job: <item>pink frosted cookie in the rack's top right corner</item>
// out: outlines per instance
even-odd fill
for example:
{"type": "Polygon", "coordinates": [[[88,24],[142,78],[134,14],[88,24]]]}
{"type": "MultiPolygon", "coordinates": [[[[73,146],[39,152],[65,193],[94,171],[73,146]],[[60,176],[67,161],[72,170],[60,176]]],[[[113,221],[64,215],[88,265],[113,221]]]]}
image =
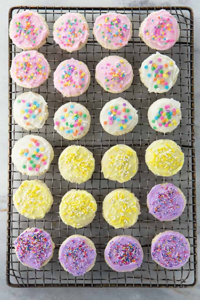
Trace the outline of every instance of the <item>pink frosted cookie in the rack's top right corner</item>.
{"type": "Polygon", "coordinates": [[[139,37],[152,49],[167,50],[180,35],[177,20],[165,9],[154,11],[141,23],[139,37]]]}

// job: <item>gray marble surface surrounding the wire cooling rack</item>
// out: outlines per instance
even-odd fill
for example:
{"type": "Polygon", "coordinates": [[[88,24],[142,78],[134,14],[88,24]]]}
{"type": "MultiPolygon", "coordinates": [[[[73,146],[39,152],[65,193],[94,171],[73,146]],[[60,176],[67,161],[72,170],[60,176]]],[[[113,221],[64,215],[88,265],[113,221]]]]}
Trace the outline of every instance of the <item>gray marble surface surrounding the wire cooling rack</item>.
{"type": "MultiPolygon", "coordinates": [[[[168,299],[168,298],[181,298],[185,299],[199,299],[200,284],[192,289],[163,289],[163,288],[152,288],[151,290],[145,288],[135,289],[124,289],[124,288],[40,288],[40,289],[13,289],[6,285],[5,282],[5,258],[6,258],[6,219],[7,219],[7,141],[8,141],[8,10],[13,5],[56,5],[56,6],[171,6],[171,5],[182,5],[190,6],[194,10],[195,19],[195,147],[196,147],[196,186],[197,186],[197,224],[198,224],[198,254],[200,255],[200,85],[199,85],[199,69],[200,69],[200,7],[199,0],[154,0],[154,1],[130,1],[130,0],[118,0],[109,1],[101,0],[98,3],[92,0],[86,1],[72,1],[67,2],[61,0],[7,0],[6,2],[1,1],[1,34],[2,34],[2,45],[0,47],[0,82],[1,82],[1,155],[0,155],[0,297],[8,300],[20,298],[20,299],[78,299],[86,297],[87,299],[168,299]]],[[[199,256],[198,255],[198,256],[199,256]]],[[[199,259],[200,261],[200,259],[199,259]]],[[[198,264],[200,270],[200,265],[198,264]]]]}

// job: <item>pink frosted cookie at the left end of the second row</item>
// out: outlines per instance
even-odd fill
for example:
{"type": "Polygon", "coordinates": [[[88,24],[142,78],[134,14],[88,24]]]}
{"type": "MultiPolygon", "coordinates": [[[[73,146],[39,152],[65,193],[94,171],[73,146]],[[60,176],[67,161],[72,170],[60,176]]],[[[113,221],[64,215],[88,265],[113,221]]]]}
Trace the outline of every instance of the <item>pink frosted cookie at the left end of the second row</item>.
{"type": "Polygon", "coordinates": [[[10,74],[14,82],[24,88],[37,88],[50,74],[44,55],[35,50],[22,51],[12,60],[10,74]]]}

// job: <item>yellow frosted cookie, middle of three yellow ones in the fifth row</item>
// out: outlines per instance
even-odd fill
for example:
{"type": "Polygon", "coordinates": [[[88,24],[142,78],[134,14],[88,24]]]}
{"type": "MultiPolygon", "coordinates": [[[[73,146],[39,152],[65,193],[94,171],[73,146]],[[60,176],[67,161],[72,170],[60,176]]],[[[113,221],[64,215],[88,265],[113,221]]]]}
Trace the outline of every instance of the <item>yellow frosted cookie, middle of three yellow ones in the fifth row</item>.
{"type": "Polygon", "coordinates": [[[74,228],[91,223],[96,210],[96,201],[86,190],[70,190],[62,197],[59,206],[62,222],[74,228]]]}

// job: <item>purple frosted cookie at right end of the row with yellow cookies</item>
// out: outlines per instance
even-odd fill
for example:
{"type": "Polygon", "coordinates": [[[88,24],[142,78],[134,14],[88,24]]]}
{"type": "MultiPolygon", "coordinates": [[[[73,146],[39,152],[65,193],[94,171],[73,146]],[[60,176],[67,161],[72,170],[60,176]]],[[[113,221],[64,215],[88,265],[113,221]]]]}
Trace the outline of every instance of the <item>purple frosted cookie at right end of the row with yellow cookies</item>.
{"type": "Polygon", "coordinates": [[[172,183],[157,184],[147,195],[149,212],[160,221],[176,219],[182,214],[185,205],[185,196],[172,183]]]}

